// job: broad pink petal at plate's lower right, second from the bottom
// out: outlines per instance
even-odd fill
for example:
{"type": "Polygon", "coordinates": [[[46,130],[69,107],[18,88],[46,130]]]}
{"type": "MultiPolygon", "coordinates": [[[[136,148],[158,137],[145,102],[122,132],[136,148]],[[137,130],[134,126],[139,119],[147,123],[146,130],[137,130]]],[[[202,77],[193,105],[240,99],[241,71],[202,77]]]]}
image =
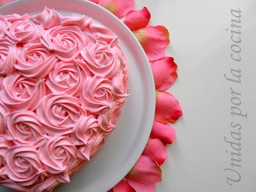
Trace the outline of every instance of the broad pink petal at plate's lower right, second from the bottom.
{"type": "Polygon", "coordinates": [[[154,192],[156,182],[160,182],[161,177],[161,168],[156,161],[151,157],[141,156],[126,176],[126,180],[135,191],[154,192]]]}

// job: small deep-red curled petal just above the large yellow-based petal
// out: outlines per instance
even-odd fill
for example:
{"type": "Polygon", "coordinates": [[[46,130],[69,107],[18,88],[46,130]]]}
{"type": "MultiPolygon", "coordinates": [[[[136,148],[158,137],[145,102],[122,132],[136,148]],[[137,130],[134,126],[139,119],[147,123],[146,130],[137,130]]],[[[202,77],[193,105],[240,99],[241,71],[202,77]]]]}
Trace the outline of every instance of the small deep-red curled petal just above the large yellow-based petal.
{"type": "Polygon", "coordinates": [[[150,21],[150,17],[150,12],[144,7],[142,10],[129,12],[125,16],[124,23],[129,29],[134,31],[140,28],[145,28],[150,21]]]}

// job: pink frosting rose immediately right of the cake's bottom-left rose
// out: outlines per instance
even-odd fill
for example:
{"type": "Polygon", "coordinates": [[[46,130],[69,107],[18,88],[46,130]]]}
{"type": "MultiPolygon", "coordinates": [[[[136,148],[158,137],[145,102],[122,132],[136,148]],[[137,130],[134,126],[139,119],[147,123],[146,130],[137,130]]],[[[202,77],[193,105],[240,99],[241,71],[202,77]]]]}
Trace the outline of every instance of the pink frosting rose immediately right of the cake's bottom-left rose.
{"type": "Polygon", "coordinates": [[[76,154],[77,148],[68,136],[52,137],[39,150],[39,158],[45,169],[49,173],[58,174],[56,178],[60,182],[69,181],[67,170],[69,163],[76,159],[76,154]]]}

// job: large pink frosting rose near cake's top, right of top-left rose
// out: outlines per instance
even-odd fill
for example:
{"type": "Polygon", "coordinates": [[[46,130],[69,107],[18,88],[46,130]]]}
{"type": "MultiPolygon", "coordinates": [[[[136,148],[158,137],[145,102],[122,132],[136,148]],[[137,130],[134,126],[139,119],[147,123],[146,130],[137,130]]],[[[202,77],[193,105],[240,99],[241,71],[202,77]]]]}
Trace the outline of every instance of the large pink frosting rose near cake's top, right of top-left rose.
{"type": "Polygon", "coordinates": [[[86,37],[77,26],[57,26],[43,34],[42,44],[62,61],[71,61],[83,49],[86,37]]]}

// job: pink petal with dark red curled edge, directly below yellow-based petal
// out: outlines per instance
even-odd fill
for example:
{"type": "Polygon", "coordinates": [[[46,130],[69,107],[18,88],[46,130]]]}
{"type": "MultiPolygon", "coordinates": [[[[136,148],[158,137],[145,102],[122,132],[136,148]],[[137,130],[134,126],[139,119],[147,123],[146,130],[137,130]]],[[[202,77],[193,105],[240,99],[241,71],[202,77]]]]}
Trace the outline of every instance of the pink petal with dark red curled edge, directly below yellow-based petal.
{"type": "Polygon", "coordinates": [[[156,90],[168,90],[177,79],[177,65],[173,58],[164,57],[154,61],[151,65],[156,90]]]}

